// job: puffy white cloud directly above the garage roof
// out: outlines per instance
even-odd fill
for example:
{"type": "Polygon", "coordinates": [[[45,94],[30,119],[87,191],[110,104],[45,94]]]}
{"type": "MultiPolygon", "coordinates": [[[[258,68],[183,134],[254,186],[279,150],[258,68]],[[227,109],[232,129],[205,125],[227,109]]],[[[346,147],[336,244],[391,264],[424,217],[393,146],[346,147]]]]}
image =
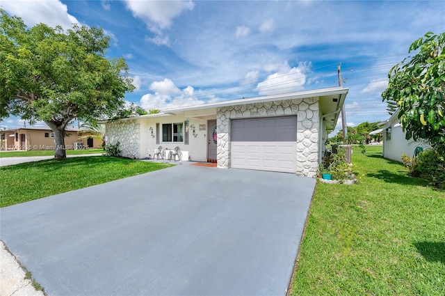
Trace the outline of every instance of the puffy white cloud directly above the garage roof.
{"type": "Polygon", "coordinates": [[[305,88],[306,73],[309,72],[310,63],[299,63],[298,67],[293,68],[284,63],[277,68],[280,68],[278,72],[269,75],[266,80],[257,85],[255,91],[258,91],[259,95],[291,93],[302,91],[305,88]]]}

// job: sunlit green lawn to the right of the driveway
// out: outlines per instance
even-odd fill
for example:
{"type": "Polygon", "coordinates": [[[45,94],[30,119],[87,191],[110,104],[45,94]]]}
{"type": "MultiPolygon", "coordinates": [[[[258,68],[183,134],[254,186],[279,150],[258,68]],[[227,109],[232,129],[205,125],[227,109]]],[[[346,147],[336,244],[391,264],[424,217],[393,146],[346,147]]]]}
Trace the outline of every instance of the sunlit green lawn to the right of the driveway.
{"type": "Polygon", "coordinates": [[[445,295],[445,192],[358,151],[359,184],[316,185],[289,295],[445,295]]]}

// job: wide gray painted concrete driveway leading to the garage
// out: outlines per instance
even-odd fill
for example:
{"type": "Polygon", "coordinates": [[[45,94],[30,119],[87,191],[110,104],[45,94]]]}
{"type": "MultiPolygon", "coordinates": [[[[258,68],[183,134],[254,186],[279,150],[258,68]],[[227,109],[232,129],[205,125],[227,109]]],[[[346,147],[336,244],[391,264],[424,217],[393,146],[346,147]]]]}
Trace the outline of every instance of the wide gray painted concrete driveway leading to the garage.
{"type": "Polygon", "coordinates": [[[178,165],[0,210],[48,295],[285,295],[315,180],[178,165]]]}

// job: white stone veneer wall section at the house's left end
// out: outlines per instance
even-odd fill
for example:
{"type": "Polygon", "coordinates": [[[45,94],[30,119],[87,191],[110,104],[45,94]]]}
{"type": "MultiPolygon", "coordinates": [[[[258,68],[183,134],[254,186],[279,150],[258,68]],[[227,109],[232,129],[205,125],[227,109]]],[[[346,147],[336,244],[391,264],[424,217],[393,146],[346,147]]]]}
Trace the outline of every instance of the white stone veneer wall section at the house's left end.
{"type": "Polygon", "coordinates": [[[121,155],[129,158],[140,157],[140,123],[139,120],[118,120],[106,123],[106,143],[119,141],[121,155]]]}

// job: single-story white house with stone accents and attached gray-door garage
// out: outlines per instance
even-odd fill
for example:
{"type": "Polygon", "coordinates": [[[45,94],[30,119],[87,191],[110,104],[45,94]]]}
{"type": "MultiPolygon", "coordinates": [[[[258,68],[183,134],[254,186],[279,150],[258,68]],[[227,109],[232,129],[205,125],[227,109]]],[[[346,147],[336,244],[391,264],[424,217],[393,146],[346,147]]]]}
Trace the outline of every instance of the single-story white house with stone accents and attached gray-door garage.
{"type": "Polygon", "coordinates": [[[106,141],[119,141],[124,157],[142,159],[159,146],[179,146],[183,160],[313,177],[347,93],[324,88],[111,120],[106,141]]]}

